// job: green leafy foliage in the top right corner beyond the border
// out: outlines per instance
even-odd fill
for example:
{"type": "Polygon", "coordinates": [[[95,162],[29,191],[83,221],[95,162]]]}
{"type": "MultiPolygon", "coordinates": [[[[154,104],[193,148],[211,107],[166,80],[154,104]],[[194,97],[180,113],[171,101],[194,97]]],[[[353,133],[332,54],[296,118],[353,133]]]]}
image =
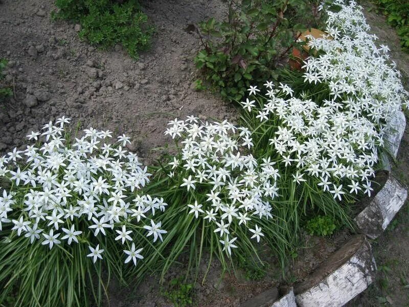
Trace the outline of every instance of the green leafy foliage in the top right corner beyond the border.
{"type": "Polygon", "coordinates": [[[409,52],[409,2],[406,0],[373,0],[386,16],[388,23],[396,28],[400,45],[409,52]]]}

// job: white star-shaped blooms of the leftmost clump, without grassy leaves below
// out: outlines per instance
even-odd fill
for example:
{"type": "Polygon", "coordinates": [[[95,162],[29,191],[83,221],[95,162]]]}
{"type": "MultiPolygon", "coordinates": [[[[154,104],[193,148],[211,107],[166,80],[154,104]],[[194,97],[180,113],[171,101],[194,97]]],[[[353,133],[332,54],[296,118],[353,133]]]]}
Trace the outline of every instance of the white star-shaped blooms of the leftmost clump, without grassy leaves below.
{"type": "Polygon", "coordinates": [[[150,216],[167,204],[141,193],[150,174],[124,148],[128,137],[122,135],[112,144],[111,131],[89,128],[71,143],[64,139],[64,124],[69,122],[62,117],[55,125],[44,125],[42,133],[28,136],[36,144],[0,157],[0,178],[8,185],[0,188],[0,235],[3,228],[11,228],[17,236],[32,244],[39,240],[50,249],[88,244],[88,256],[95,262],[102,259],[100,245],[111,232],[124,248],[132,244],[123,250],[125,262],[136,265],[137,258],[143,258],[142,248],[135,250],[140,242],[130,228],[153,235],[153,242],[162,239],[166,231],[150,216]],[[91,242],[99,244],[94,248],[91,242]]]}

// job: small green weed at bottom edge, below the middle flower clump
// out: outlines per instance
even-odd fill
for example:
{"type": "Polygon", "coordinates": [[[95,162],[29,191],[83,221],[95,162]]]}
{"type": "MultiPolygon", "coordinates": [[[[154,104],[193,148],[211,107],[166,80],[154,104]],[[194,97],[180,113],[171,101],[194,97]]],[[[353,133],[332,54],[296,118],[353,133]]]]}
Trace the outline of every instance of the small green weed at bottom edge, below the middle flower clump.
{"type": "Polygon", "coordinates": [[[190,306],[192,299],[192,283],[184,283],[183,277],[173,278],[169,282],[169,290],[163,291],[163,296],[172,302],[175,307],[190,306]]]}

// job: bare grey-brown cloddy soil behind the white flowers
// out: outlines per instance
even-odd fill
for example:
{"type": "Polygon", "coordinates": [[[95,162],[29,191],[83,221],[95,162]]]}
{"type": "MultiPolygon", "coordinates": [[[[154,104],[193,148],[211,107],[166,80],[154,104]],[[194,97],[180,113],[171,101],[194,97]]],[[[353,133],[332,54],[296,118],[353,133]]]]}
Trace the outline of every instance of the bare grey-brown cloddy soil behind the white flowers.
{"type": "Polygon", "coordinates": [[[192,88],[200,44],[186,30],[222,16],[225,4],[146,0],[142,6],[157,32],[151,50],[135,61],[121,46],[98,50],[80,40],[75,25],[51,20],[52,0],[0,4],[0,57],[10,61],[5,82],[14,87],[14,98],[0,106],[0,152],[24,145],[29,131],[63,114],[82,127],[127,134],[130,149],[144,158],[169,141],[164,131],[175,117],[234,120],[232,104],[192,88]]]}

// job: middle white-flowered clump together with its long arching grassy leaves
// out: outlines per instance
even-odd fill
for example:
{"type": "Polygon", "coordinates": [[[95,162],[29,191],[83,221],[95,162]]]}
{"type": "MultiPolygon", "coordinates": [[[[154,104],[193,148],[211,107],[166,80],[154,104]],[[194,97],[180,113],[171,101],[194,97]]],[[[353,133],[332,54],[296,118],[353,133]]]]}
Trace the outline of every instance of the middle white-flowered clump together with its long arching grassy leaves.
{"type": "Polygon", "coordinates": [[[281,214],[272,214],[271,200],[285,211],[297,201],[278,196],[280,174],[268,158],[253,157],[251,132],[193,116],[169,124],[166,134],[181,147],[158,172],[166,183],[157,195],[172,204],[160,217],[163,227],[171,228],[163,242],[171,246],[162,277],[182,253],[189,255],[188,267],[197,268],[203,249],[210,252],[209,268],[217,257],[230,270],[239,255],[261,264],[260,242],[284,262],[295,233],[281,214]]]}

